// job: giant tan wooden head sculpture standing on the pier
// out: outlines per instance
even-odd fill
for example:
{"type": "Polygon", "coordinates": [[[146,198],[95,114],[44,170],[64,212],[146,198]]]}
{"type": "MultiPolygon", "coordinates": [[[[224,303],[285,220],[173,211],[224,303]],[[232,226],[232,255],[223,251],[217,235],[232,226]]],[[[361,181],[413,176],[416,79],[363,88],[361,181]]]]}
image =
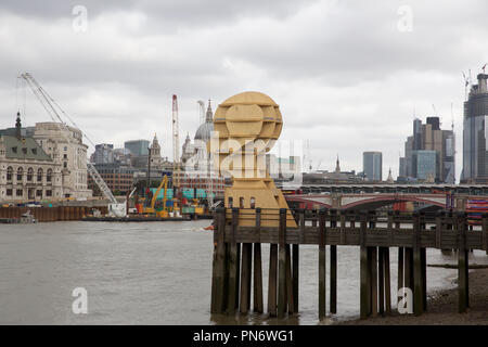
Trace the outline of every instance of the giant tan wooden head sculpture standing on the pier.
{"type": "MultiPolygon", "coordinates": [[[[232,177],[232,187],[226,189],[226,207],[254,209],[277,214],[287,208],[280,190],[266,169],[266,153],[281,134],[283,119],[280,106],[268,95],[248,91],[233,95],[222,102],[214,116],[214,139],[210,151],[215,169],[232,177]]],[[[296,227],[291,214],[287,226],[296,227]]],[[[254,224],[240,220],[240,224],[254,224]]],[[[278,219],[265,221],[262,226],[275,226],[278,219]]]]}

